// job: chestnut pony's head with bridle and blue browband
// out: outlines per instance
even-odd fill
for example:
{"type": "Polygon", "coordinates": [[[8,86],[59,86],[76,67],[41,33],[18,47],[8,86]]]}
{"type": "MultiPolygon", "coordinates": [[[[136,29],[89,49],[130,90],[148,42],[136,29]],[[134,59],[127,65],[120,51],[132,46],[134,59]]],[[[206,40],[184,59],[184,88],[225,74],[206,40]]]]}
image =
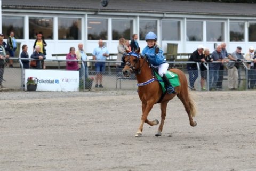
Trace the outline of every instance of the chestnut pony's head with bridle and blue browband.
{"type": "Polygon", "coordinates": [[[134,73],[140,67],[140,63],[139,63],[140,48],[136,52],[129,51],[126,49],[126,52],[127,54],[124,56],[125,66],[123,69],[123,75],[125,77],[129,77],[130,73],[134,73]]]}

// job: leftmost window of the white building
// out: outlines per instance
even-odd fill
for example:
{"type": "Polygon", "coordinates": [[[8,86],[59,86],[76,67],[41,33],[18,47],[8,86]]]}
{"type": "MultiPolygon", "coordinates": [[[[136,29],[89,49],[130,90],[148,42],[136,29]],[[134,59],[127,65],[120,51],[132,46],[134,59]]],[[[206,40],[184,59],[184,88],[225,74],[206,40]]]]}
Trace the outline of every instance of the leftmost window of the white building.
{"type": "Polygon", "coordinates": [[[24,39],[24,18],[14,16],[2,16],[2,31],[5,38],[9,37],[10,32],[14,32],[16,39],[24,39]]]}

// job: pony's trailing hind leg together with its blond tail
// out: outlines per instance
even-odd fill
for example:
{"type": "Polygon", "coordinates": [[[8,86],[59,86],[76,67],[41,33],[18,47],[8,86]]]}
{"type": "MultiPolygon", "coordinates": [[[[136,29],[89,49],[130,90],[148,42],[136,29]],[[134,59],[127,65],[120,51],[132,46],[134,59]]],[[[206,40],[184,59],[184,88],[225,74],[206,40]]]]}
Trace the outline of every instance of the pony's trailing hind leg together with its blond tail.
{"type": "Polygon", "coordinates": [[[194,100],[191,99],[191,96],[188,93],[188,91],[185,93],[184,92],[179,93],[177,95],[177,97],[181,100],[181,102],[183,103],[183,105],[185,107],[186,112],[188,113],[189,124],[194,127],[197,125],[197,123],[195,121],[193,121],[192,117],[196,116],[196,105],[195,105],[194,100]],[[185,93],[187,95],[185,95],[185,93]]]}

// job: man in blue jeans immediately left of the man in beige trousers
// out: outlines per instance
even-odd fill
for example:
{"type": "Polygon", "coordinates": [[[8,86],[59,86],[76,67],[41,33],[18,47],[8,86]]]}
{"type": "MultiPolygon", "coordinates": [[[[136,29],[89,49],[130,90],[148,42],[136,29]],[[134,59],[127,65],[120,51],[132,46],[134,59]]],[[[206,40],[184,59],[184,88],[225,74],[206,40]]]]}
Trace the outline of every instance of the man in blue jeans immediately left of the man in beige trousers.
{"type": "Polygon", "coordinates": [[[227,57],[227,58],[230,58],[231,56],[230,56],[230,54],[228,54],[228,52],[227,52],[227,50],[226,50],[226,43],[225,42],[222,42],[221,44],[220,44],[220,46],[221,46],[221,56],[222,56],[222,59],[223,59],[223,61],[222,61],[222,63],[221,63],[221,65],[220,65],[220,69],[219,69],[219,73],[218,73],[218,82],[217,82],[217,84],[216,84],[216,88],[217,89],[219,89],[219,90],[222,90],[223,89],[223,87],[222,87],[222,82],[223,82],[223,74],[224,74],[224,65],[223,65],[223,62],[228,62],[228,60],[226,60],[225,58],[227,57]]]}

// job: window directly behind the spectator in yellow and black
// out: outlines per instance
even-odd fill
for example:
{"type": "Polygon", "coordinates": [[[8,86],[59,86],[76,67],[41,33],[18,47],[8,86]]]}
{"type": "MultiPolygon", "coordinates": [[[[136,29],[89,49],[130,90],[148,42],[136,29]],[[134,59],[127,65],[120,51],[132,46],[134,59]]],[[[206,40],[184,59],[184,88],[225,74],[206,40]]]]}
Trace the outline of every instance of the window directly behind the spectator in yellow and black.
{"type": "Polygon", "coordinates": [[[53,39],[53,18],[29,17],[29,39],[36,39],[38,33],[43,39],[53,39]]]}

